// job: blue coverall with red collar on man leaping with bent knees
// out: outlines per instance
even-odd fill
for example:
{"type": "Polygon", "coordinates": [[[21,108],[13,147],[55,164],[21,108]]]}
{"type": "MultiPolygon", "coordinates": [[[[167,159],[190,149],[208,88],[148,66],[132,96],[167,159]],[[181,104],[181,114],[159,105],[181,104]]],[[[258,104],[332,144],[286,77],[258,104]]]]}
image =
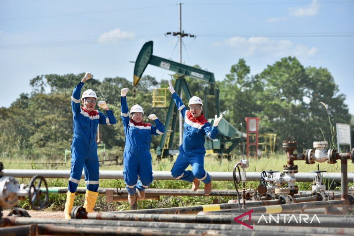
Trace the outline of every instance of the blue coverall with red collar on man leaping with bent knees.
{"type": "Polygon", "coordinates": [[[211,127],[210,123],[204,118],[204,114],[194,119],[177,93],[173,93],[172,98],[183,116],[184,128],[183,143],[179,146],[179,154],[175,164],[173,164],[171,174],[176,179],[193,182],[193,179],[197,178],[199,181],[209,184],[211,178],[204,169],[204,137],[215,139],[218,134],[218,127],[211,127]],[[192,171],[185,170],[188,165],[192,166],[192,171]]]}

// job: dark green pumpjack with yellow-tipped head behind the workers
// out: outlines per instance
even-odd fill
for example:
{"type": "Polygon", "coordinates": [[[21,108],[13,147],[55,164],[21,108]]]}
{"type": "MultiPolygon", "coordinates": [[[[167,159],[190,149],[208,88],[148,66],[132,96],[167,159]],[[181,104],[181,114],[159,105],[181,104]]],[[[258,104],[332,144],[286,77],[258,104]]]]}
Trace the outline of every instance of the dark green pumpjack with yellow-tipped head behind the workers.
{"type": "MultiPolygon", "coordinates": [[[[209,87],[206,87],[204,90],[204,117],[212,124],[214,122],[213,118],[208,119],[208,100],[207,96],[211,95],[216,99],[216,113],[218,116],[220,115],[220,104],[219,104],[219,90],[215,86],[215,77],[214,74],[201,70],[195,67],[191,67],[189,65],[181,64],[175,61],[171,61],[169,59],[161,58],[153,55],[153,41],[146,42],[141,48],[138,57],[135,62],[134,67],[134,76],[133,76],[133,94],[135,94],[135,87],[138,84],[141,76],[143,75],[146,67],[150,65],[154,65],[156,67],[160,67],[162,69],[171,70],[176,73],[177,79],[174,85],[177,94],[181,93],[183,89],[186,98],[189,100],[192,96],[190,94],[187,82],[185,80],[185,76],[191,77],[193,79],[198,79],[203,82],[209,84],[209,87]]],[[[171,102],[168,108],[168,112],[166,115],[165,121],[165,130],[166,132],[162,135],[160,144],[156,148],[156,155],[161,157],[171,157],[174,154],[178,153],[178,148],[173,146],[173,136],[176,133],[176,124],[177,124],[177,116],[179,111],[176,107],[176,104],[171,98],[171,102]],[[171,122],[172,118],[172,122],[171,122]],[[171,128],[169,128],[171,127],[171,128]],[[169,134],[168,140],[168,148],[164,148],[166,142],[167,133],[169,134]]],[[[204,144],[207,152],[215,153],[218,155],[229,154],[235,146],[243,142],[245,139],[242,137],[242,133],[238,131],[235,127],[233,127],[227,120],[224,118],[218,124],[219,134],[216,139],[210,140],[206,139],[204,144]],[[227,142],[230,142],[231,145],[226,145],[227,142]]]]}

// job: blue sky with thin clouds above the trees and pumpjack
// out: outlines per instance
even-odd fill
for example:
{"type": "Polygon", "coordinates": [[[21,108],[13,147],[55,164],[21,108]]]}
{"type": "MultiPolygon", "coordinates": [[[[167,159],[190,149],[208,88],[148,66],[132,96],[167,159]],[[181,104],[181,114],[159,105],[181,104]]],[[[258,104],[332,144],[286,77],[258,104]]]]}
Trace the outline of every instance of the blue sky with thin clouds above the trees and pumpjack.
{"type": "MultiPolygon", "coordinates": [[[[142,45],[179,61],[180,1],[0,0],[0,107],[30,92],[37,75],[90,71],[96,79],[133,79],[142,45]]],[[[354,0],[181,1],[182,61],[223,80],[244,58],[251,74],[282,57],[327,68],[354,114],[354,0]]],[[[145,75],[169,79],[149,65],[145,75]]],[[[119,98],[117,98],[119,99],[119,98]]]]}

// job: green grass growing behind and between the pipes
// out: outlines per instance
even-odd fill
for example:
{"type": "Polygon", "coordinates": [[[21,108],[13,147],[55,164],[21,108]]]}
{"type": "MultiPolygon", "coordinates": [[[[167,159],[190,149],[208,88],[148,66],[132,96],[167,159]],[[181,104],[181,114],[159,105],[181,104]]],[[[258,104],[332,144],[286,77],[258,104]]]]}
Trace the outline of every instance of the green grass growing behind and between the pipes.
{"type": "MultiPolygon", "coordinates": [[[[108,150],[106,159],[112,159],[117,150],[108,150]]],[[[121,152],[121,151],[119,151],[121,152]]],[[[119,153],[121,155],[121,153],[119,153]]],[[[156,159],[156,155],[153,154],[153,170],[154,171],[170,171],[176,157],[174,160],[169,159],[156,159]]],[[[232,172],[233,166],[241,159],[241,157],[234,157],[230,161],[227,159],[217,159],[213,155],[207,154],[205,156],[205,169],[208,172],[222,171],[222,172],[232,172]]],[[[120,159],[121,160],[121,159],[120,159]]],[[[63,162],[64,157],[52,162],[63,162]]],[[[4,164],[5,169],[69,169],[70,163],[68,165],[57,165],[52,166],[49,164],[39,164],[39,162],[47,162],[45,159],[29,160],[22,157],[17,157],[16,159],[11,158],[1,158],[1,162],[4,164]]],[[[286,165],[286,153],[279,152],[278,154],[264,157],[264,158],[250,158],[250,167],[246,169],[248,172],[262,172],[263,170],[274,170],[282,171],[283,166],[286,165]]],[[[298,166],[299,172],[310,172],[317,170],[317,163],[314,165],[307,165],[305,161],[295,161],[295,165],[298,166]]],[[[122,170],[122,165],[115,166],[101,166],[100,170],[122,170]]],[[[190,166],[187,169],[192,169],[190,166]]],[[[326,170],[327,172],[340,172],[340,162],[330,165],[327,162],[319,163],[320,170],[326,170]]],[[[348,172],[354,171],[354,165],[348,162],[348,172]]],[[[29,184],[29,178],[17,178],[19,183],[29,184]]],[[[67,179],[49,179],[46,178],[48,186],[55,187],[67,187],[67,179]]],[[[242,189],[242,183],[238,185],[239,190],[242,189]]],[[[246,188],[257,188],[259,182],[246,182],[246,188]]],[[[297,183],[300,190],[310,190],[310,183],[297,183]]],[[[112,179],[101,179],[100,188],[125,188],[124,180],[112,180],[112,179]]],[[[154,180],[150,185],[150,188],[161,188],[161,189],[190,189],[191,184],[185,181],[177,180],[154,180]]],[[[349,186],[353,186],[353,183],[349,183],[349,186]]],[[[81,179],[79,187],[86,187],[84,180],[81,179]]],[[[201,183],[200,188],[204,188],[204,184],[201,183]]],[[[213,181],[213,189],[235,189],[232,181],[213,181]]],[[[45,208],[46,211],[64,211],[65,194],[50,194],[48,206],[45,208]]],[[[142,200],[138,202],[139,209],[148,208],[161,208],[161,207],[177,207],[177,206],[194,206],[194,205],[207,205],[212,204],[213,199],[216,197],[197,197],[197,196],[161,196],[160,200],[142,200]]],[[[220,203],[227,203],[233,197],[218,197],[220,203]]],[[[74,206],[79,206],[84,204],[84,195],[76,195],[74,206]]],[[[24,209],[29,209],[28,200],[19,201],[16,207],[21,207],[24,209]]],[[[98,200],[95,205],[96,211],[120,211],[130,209],[128,202],[105,202],[105,196],[99,195],[98,200]]]]}

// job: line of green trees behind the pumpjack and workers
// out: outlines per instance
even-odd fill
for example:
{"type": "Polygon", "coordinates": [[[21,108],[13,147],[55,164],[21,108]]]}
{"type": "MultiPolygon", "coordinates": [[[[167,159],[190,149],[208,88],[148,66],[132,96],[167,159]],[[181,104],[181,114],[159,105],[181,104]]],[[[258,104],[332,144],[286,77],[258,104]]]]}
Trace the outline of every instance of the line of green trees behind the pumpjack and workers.
{"type": "MultiPolygon", "coordinates": [[[[354,141],[352,115],[344,103],[346,96],[339,93],[326,68],[304,68],[297,58],[284,57],[259,74],[251,75],[250,71],[246,61],[239,59],[231,66],[229,74],[216,83],[220,90],[221,112],[239,131],[246,131],[245,117],[259,117],[259,133],[277,134],[278,149],[281,149],[283,140],[297,140],[301,152],[312,148],[314,141],[326,140],[335,145],[332,140],[335,123],[351,123],[354,141]]],[[[34,156],[63,155],[63,151],[70,148],[72,139],[72,90],[84,74],[36,76],[30,80],[30,94],[23,93],[9,108],[0,108],[0,155],[23,152],[34,156]]],[[[193,78],[185,79],[192,95],[203,98],[203,91],[209,85],[193,78]]],[[[93,78],[82,90],[94,90],[98,100],[105,100],[118,120],[114,126],[101,126],[101,139],[107,148],[124,147],[120,122],[121,88],[130,88],[128,105],[141,105],[146,114],[145,122],[149,122],[149,114],[165,121],[167,109],[152,108],[152,89],[167,88],[168,80],[158,82],[155,77],[144,75],[134,98],[132,86],[132,80],[124,77],[105,78],[101,82],[93,73],[93,78]]],[[[188,101],[184,99],[184,103],[188,104],[188,101]]],[[[209,99],[208,105],[208,111],[215,108],[215,103],[209,99]]],[[[178,145],[177,134],[175,139],[174,143],[178,145]]],[[[159,140],[159,137],[152,139],[152,148],[156,148],[159,140]]]]}

